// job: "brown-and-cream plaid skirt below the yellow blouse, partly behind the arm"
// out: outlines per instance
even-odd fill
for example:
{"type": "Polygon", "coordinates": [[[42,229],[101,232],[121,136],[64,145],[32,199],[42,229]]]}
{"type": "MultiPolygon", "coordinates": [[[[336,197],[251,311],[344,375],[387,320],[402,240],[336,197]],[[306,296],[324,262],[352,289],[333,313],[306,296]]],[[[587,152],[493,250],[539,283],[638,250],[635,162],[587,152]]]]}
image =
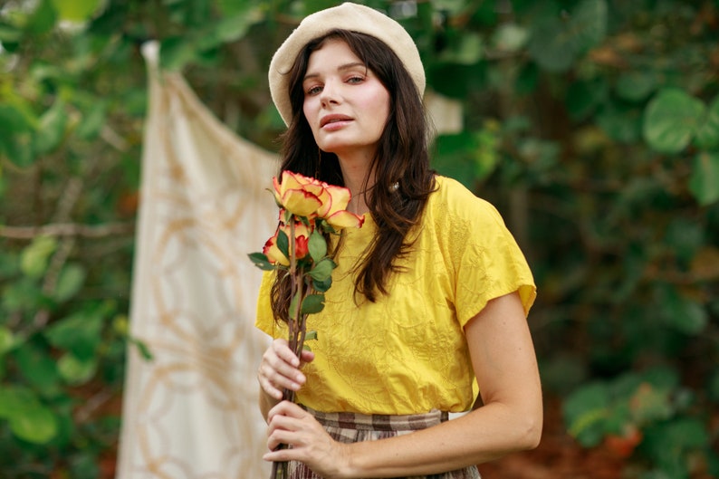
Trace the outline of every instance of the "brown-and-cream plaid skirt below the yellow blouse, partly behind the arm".
{"type": "MultiPolygon", "coordinates": [[[[324,426],[333,439],[348,444],[402,436],[412,431],[436,426],[449,418],[446,412],[436,410],[427,414],[407,416],[365,416],[354,413],[322,413],[310,407],[303,408],[324,426]]],[[[314,474],[312,469],[297,461],[290,462],[289,473],[290,479],[322,479],[321,476],[314,474]]],[[[399,479],[480,479],[480,476],[473,465],[444,474],[413,475],[399,479]]]]}

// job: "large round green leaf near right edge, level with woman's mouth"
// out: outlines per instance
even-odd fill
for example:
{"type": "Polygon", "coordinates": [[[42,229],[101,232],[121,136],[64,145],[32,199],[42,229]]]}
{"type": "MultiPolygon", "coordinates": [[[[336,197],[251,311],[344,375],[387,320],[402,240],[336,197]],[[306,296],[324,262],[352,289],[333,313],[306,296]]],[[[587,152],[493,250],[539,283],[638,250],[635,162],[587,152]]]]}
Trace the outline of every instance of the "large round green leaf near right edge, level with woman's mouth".
{"type": "Polygon", "coordinates": [[[705,110],[702,101],[683,90],[661,90],[647,104],[644,139],[660,153],[678,153],[692,140],[705,110]]]}

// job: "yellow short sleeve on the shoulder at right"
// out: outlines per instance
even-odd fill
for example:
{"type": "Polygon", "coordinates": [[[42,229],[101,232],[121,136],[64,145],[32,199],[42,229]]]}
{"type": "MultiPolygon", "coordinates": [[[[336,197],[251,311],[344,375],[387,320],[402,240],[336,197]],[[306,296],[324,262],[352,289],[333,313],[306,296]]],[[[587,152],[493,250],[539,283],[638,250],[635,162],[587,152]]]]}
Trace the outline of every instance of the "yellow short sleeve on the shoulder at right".
{"type": "Polygon", "coordinates": [[[502,216],[469,190],[450,193],[446,199],[451,218],[448,229],[452,232],[450,255],[455,269],[457,320],[464,328],[487,302],[512,292],[519,293],[527,315],[537,295],[536,286],[529,264],[502,216]]]}

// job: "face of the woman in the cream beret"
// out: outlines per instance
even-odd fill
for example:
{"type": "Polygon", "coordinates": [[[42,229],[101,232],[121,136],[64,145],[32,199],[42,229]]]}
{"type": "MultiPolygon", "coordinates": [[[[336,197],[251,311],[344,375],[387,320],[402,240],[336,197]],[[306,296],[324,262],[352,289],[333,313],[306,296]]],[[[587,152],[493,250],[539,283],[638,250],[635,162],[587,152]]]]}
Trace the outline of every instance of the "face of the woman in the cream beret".
{"type": "Polygon", "coordinates": [[[340,158],[374,157],[389,92],[347,43],[328,40],[312,52],[302,90],[302,110],[322,150],[340,158]]]}

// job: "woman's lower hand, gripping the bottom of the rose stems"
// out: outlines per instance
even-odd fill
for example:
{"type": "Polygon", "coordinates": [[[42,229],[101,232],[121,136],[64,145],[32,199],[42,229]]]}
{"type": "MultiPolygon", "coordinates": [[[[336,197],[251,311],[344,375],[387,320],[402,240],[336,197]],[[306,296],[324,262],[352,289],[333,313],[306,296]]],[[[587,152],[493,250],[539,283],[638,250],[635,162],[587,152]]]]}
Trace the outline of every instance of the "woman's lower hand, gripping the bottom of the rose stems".
{"type": "Polygon", "coordinates": [[[332,439],[302,407],[283,401],[270,410],[267,421],[267,446],[272,452],[263,456],[265,461],[300,461],[328,479],[340,477],[348,465],[348,445],[332,439]],[[292,448],[273,450],[281,444],[292,448]]]}

